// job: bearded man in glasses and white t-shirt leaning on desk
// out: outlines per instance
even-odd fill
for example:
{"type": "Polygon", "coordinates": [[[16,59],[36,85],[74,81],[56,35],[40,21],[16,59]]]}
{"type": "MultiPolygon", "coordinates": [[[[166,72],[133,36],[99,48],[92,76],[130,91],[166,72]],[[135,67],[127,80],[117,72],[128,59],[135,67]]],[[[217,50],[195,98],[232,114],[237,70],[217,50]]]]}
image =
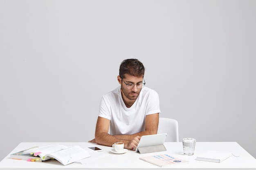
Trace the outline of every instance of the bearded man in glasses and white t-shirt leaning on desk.
{"type": "Polygon", "coordinates": [[[137,148],[142,135],[157,134],[159,96],[156,91],[144,87],[144,71],[137,59],[121,62],[117,76],[121,86],[103,95],[95,139],[89,142],[105,146],[123,142],[124,148],[132,150],[137,148]]]}

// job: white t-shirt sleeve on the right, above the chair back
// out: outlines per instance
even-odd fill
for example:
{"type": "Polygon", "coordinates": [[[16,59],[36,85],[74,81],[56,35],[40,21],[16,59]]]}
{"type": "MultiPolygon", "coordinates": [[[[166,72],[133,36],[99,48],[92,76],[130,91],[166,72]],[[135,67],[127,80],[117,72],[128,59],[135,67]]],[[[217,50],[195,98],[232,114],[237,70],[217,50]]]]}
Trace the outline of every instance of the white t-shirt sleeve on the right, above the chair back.
{"type": "Polygon", "coordinates": [[[156,91],[150,91],[146,115],[160,113],[159,95],[156,91]]]}

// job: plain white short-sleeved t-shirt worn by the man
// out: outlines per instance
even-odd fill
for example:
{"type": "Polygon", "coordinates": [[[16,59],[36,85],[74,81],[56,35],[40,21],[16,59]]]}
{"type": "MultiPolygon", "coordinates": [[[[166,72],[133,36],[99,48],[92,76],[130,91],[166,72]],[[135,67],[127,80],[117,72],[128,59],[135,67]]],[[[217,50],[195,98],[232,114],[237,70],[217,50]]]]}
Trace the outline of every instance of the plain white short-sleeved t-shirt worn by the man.
{"type": "Polygon", "coordinates": [[[130,135],[145,130],[146,115],[160,112],[156,91],[145,86],[135,103],[127,108],[119,86],[101,98],[99,117],[110,120],[110,135],[130,135]]]}

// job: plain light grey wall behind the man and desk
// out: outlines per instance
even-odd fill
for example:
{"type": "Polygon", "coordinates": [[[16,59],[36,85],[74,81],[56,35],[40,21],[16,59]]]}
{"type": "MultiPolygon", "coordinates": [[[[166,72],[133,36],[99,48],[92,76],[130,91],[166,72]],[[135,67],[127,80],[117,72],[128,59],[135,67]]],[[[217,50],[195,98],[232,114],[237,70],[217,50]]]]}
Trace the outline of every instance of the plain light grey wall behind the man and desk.
{"type": "Polygon", "coordinates": [[[0,0],[0,160],[94,138],[119,64],[138,58],[180,139],[256,157],[255,0],[0,0]]]}

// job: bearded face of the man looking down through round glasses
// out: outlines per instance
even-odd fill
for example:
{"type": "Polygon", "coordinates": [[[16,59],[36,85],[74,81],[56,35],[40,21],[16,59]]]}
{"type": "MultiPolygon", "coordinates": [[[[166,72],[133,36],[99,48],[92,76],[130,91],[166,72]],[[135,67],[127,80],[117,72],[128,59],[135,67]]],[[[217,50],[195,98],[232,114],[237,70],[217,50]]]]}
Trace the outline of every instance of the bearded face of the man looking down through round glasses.
{"type": "Polygon", "coordinates": [[[132,75],[125,75],[125,78],[123,77],[123,81],[121,81],[121,91],[123,92],[124,96],[127,99],[130,100],[136,100],[139,97],[139,93],[141,91],[141,88],[137,88],[138,83],[142,83],[143,77],[135,77],[132,75]],[[126,84],[135,84],[135,86],[132,89],[128,89],[126,84]]]}

